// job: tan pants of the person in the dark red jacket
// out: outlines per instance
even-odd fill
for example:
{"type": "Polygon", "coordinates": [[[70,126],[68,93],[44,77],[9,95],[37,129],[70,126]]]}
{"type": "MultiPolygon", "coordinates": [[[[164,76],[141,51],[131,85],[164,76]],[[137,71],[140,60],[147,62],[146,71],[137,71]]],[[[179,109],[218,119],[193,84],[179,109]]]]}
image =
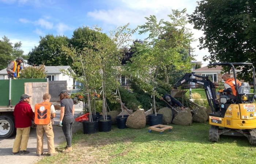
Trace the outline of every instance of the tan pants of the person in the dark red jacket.
{"type": "Polygon", "coordinates": [[[29,141],[30,126],[27,128],[16,128],[16,137],[14,140],[12,152],[27,150],[27,142],[29,141]]]}

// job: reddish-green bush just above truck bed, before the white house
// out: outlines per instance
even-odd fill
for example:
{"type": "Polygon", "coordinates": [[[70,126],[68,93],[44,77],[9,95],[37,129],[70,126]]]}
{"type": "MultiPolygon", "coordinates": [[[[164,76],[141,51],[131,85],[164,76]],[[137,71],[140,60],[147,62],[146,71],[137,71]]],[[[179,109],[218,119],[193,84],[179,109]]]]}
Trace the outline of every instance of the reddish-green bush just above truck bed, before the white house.
{"type": "Polygon", "coordinates": [[[28,66],[24,67],[21,70],[20,78],[21,79],[43,79],[45,78],[46,73],[45,73],[45,67],[39,66],[39,67],[33,67],[33,66],[28,66]]]}

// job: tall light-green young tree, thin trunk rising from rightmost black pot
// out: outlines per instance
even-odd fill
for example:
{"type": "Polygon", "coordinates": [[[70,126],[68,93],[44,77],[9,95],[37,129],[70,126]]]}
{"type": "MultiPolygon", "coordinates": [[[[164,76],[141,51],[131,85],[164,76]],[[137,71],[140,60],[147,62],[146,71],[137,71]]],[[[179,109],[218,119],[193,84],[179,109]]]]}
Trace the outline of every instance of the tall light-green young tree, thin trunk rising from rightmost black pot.
{"type": "Polygon", "coordinates": [[[191,32],[185,28],[185,12],[173,10],[168,15],[170,21],[161,19],[159,23],[154,15],[146,17],[139,34],[149,35],[143,44],[136,44],[137,52],[127,64],[132,77],[139,77],[141,87],[153,95],[155,115],[155,96],[159,97],[155,88],[161,83],[169,84],[171,73],[191,69],[190,58],[184,53],[192,41],[191,32]]]}

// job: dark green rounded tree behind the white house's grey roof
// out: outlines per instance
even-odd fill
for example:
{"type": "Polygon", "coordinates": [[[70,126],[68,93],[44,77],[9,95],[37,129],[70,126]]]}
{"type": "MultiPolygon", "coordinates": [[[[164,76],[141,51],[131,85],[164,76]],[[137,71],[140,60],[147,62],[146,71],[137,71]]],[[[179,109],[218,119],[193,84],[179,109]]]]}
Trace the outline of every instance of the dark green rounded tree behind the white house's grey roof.
{"type": "Polygon", "coordinates": [[[40,39],[39,45],[29,52],[28,63],[30,65],[71,65],[71,58],[67,58],[61,49],[62,46],[68,46],[68,38],[66,36],[53,36],[49,34],[44,37],[40,36],[40,39]]]}

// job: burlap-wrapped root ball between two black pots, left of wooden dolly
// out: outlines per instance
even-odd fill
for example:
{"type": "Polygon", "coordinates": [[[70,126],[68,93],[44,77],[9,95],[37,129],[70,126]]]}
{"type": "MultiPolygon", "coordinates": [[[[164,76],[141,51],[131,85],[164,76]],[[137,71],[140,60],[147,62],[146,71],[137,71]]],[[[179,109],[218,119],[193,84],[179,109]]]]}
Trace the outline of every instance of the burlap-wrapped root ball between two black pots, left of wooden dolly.
{"type": "Polygon", "coordinates": [[[146,126],[146,115],[144,110],[136,110],[127,118],[126,126],[133,129],[141,129],[146,126]]]}

